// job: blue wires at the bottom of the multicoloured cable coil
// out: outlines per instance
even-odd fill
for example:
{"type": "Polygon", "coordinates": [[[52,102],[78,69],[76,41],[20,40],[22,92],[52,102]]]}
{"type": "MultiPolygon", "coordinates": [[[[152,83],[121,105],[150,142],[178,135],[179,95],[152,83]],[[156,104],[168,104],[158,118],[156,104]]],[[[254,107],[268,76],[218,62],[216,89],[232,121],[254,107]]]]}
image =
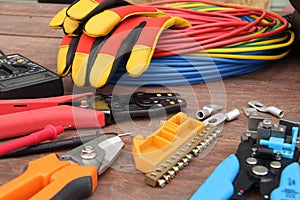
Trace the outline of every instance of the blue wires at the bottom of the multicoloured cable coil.
{"type": "Polygon", "coordinates": [[[153,58],[149,68],[139,77],[126,73],[126,60],[111,83],[122,85],[186,85],[199,84],[242,75],[268,66],[265,60],[238,60],[201,56],[169,56],[153,58]]]}

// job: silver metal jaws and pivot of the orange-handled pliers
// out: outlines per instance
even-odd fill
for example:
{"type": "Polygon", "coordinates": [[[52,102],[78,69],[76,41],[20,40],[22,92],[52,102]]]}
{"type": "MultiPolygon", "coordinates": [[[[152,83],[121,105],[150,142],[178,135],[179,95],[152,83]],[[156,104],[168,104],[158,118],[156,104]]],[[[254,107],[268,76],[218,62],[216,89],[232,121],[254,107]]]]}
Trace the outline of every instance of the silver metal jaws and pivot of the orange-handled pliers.
{"type": "Polygon", "coordinates": [[[119,136],[107,135],[76,147],[61,158],[84,166],[95,166],[102,174],[119,155],[124,143],[119,136]]]}

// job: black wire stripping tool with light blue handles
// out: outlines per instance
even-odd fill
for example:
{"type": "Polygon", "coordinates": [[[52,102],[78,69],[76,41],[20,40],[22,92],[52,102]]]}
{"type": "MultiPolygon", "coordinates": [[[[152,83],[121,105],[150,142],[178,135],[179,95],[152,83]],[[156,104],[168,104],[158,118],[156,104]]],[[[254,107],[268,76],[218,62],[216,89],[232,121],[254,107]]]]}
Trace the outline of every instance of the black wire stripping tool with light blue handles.
{"type": "Polygon", "coordinates": [[[250,117],[236,154],[219,164],[190,199],[245,199],[255,186],[261,199],[300,199],[299,127],[297,121],[273,124],[270,118],[250,117]]]}

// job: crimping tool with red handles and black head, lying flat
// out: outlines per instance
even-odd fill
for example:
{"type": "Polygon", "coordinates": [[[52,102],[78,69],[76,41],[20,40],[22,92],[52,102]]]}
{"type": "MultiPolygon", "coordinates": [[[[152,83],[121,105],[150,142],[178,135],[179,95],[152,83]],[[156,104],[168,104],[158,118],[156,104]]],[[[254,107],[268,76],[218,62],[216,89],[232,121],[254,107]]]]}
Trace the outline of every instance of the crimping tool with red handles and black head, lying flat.
{"type": "Polygon", "coordinates": [[[70,128],[103,127],[131,117],[179,112],[185,106],[186,101],[176,93],[136,92],[122,96],[84,93],[0,100],[0,139],[39,131],[49,124],[70,128]]]}

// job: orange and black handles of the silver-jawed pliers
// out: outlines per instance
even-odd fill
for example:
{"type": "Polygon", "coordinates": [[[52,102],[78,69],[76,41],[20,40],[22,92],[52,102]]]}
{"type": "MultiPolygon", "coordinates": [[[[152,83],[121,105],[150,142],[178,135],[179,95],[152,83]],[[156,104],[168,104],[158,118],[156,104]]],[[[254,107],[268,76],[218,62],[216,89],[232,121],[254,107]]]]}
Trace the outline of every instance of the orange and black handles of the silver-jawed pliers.
{"type": "Polygon", "coordinates": [[[24,174],[0,187],[0,199],[81,199],[98,181],[95,166],[60,161],[55,154],[31,161],[24,174]]]}

